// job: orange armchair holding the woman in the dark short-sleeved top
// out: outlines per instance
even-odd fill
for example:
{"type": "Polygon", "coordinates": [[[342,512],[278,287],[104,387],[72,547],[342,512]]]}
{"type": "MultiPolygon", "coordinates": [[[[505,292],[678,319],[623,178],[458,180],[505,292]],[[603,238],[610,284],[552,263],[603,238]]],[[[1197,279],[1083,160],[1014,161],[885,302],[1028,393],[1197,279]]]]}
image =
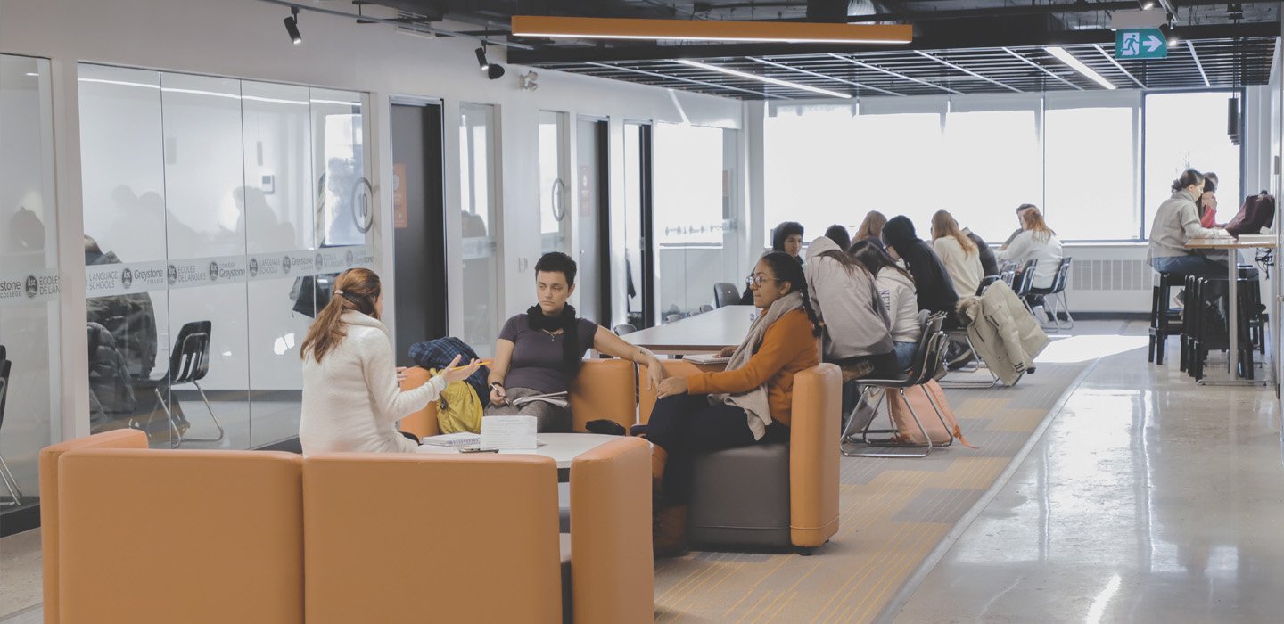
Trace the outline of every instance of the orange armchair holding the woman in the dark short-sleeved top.
{"type": "MultiPolygon", "coordinates": [[[[428,383],[428,370],[412,367],[406,371],[403,390],[411,390],[428,383]]],[[[586,360],[579,375],[570,388],[570,411],[574,419],[571,429],[586,431],[584,424],[591,420],[614,420],[624,429],[637,419],[637,401],[633,388],[637,384],[637,370],[627,360],[586,360]]],[[[488,397],[482,397],[483,403],[488,397]]],[[[401,420],[401,430],[420,438],[437,435],[437,403],[430,402],[424,410],[401,420]]]]}

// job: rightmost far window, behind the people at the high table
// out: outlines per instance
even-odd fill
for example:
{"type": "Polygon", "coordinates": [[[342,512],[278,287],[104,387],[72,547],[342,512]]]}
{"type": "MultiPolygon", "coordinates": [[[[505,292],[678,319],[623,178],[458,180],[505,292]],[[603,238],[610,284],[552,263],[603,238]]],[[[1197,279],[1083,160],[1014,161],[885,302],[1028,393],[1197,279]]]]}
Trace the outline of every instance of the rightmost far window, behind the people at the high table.
{"type": "MultiPolygon", "coordinates": [[[[1217,173],[1217,222],[1239,211],[1239,146],[1226,134],[1228,91],[1145,96],[1145,207],[1154,209],[1185,169],[1217,173]]],[[[1261,189],[1257,189],[1261,190],[1261,189]]]]}

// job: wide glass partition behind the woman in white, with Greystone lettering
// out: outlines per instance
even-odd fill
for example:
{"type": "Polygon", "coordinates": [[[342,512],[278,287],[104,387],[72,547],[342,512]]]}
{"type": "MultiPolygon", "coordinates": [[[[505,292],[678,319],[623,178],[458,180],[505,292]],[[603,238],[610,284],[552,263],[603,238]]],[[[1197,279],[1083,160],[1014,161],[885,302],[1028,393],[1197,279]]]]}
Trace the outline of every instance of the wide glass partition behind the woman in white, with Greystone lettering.
{"type": "Polygon", "coordinates": [[[363,95],[80,65],[91,429],[298,435],[299,344],[375,264],[363,95]]]}

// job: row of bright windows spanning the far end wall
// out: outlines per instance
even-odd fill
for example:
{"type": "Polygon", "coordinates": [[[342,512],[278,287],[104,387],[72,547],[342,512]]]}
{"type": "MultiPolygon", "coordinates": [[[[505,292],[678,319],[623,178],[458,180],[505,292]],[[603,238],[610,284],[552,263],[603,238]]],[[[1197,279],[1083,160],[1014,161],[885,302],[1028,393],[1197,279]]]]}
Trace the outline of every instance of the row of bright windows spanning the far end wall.
{"type": "Polygon", "coordinates": [[[1230,95],[1148,95],[1145,107],[1139,91],[773,105],[764,122],[764,244],[781,221],[801,222],[813,239],[833,223],[854,227],[868,211],[904,214],[927,239],[942,208],[1002,243],[1023,203],[1039,205],[1062,240],[1144,239],[1143,211],[1166,199],[1185,168],[1219,173],[1225,222],[1240,194],[1239,148],[1226,136],[1230,95]]]}

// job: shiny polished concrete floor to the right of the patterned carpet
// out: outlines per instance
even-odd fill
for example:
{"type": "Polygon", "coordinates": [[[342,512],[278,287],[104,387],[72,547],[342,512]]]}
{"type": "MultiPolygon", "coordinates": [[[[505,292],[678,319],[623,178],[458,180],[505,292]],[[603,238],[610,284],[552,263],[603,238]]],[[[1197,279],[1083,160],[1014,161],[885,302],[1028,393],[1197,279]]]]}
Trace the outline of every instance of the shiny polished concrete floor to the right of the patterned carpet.
{"type": "MultiPolygon", "coordinates": [[[[1144,335],[1141,324],[1124,334],[1144,335]]],[[[1100,358],[898,623],[1284,621],[1280,404],[1100,358]]],[[[1174,347],[1170,343],[1170,347],[1174,347]]]]}

